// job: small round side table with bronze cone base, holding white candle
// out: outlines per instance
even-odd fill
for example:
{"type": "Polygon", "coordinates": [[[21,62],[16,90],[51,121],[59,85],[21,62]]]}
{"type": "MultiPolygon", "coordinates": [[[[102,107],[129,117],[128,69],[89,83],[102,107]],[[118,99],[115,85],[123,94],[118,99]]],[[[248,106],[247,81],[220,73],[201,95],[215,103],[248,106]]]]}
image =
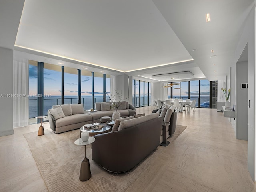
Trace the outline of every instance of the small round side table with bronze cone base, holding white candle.
{"type": "Polygon", "coordinates": [[[90,168],[90,162],[88,158],[86,157],[86,145],[89,145],[95,141],[94,137],[89,137],[88,141],[82,141],[81,138],[75,140],[75,144],[79,146],[84,146],[84,160],[81,162],[81,168],[80,168],[80,181],[86,181],[91,178],[91,168],[90,168]]]}

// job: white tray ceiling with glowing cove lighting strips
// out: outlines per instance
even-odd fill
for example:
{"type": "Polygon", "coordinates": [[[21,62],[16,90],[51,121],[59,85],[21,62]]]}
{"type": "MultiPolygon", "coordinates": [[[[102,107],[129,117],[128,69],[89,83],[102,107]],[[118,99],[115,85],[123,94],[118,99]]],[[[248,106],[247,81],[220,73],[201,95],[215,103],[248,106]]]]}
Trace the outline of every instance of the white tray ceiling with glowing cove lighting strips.
{"type": "Polygon", "coordinates": [[[179,74],[175,80],[226,79],[253,4],[254,0],[25,0],[14,49],[42,62],[62,60],[69,66],[75,63],[137,79],[170,81],[174,74],[168,73],[183,71],[193,76],[179,74]]]}

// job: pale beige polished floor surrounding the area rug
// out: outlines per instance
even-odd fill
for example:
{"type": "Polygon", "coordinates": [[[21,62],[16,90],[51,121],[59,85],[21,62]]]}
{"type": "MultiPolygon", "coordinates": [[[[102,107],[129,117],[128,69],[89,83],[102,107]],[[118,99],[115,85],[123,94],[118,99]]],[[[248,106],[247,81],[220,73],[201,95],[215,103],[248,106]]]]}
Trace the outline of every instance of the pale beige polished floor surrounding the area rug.
{"type": "MultiPolygon", "coordinates": [[[[149,114],[153,106],[136,108],[149,114]]],[[[216,109],[196,108],[178,113],[177,124],[187,126],[127,192],[253,192],[256,185],[247,170],[247,142],[216,109]]],[[[43,123],[49,129],[48,122],[43,123]]],[[[39,124],[14,128],[0,137],[0,191],[47,192],[23,134],[39,124]]],[[[35,138],[37,139],[37,138],[35,138]]]]}

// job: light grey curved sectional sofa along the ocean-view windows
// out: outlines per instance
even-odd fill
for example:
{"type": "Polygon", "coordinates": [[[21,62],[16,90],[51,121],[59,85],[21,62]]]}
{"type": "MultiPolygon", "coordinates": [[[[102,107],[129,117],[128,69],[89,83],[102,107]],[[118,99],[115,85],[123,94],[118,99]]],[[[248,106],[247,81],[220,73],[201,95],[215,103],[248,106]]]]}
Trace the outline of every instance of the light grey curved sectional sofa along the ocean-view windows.
{"type": "MultiPolygon", "coordinates": [[[[50,128],[55,133],[62,133],[81,128],[84,124],[100,123],[102,116],[111,117],[114,112],[114,110],[106,108],[106,105],[108,105],[105,104],[106,102],[102,103],[95,103],[97,112],[93,113],[84,113],[83,104],[54,105],[52,109],[48,110],[50,128]],[[101,110],[101,105],[103,106],[103,111],[101,110]]],[[[134,106],[128,104],[128,102],[121,109],[123,110],[118,110],[121,116],[128,117],[136,114],[134,106]]]]}

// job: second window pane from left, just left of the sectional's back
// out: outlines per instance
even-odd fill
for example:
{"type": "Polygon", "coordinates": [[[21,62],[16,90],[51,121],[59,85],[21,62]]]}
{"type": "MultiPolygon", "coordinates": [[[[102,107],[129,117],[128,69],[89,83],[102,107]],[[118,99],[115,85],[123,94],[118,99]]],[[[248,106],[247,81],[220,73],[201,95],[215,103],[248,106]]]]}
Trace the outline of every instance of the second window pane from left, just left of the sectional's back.
{"type": "Polygon", "coordinates": [[[44,115],[53,105],[61,104],[61,66],[44,63],[44,115]]]}

